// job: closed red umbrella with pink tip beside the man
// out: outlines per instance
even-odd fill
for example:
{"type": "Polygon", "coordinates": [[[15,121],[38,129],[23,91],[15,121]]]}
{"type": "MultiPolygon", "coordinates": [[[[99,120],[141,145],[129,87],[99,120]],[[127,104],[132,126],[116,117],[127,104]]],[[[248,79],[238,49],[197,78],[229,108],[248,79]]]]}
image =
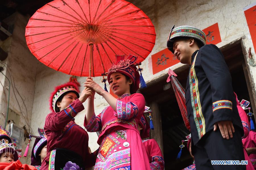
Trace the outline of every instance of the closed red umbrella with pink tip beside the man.
{"type": "Polygon", "coordinates": [[[166,82],[170,82],[171,81],[171,83],[172,83],[172,88],[174,90],[174,94],[176,96],[176,99],[177,99],[177,102],[178,102],[178,105],[179,105],[181,116],[183,118],[185,126],[190,131],[189,120],[188,120],[188,117],[187,117],[187,106],[186,106],[186,100],[185,100],[185,89],[181,86],[181,84],[177,80],[177,78],[176,78],[177,75],[174,73],[174,71],[169,69],[168,74],[169,74],[169,76],[168,76],[166,82]]]}

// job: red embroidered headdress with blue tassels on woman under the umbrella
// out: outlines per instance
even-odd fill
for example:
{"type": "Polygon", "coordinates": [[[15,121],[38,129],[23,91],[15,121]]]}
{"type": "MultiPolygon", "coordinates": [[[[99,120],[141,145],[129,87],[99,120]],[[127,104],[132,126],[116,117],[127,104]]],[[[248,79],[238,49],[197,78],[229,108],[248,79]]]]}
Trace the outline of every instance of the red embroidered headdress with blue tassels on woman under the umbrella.
{"type": "MultiPolygon", "coordinates": [[[[112,73],[119,72],[127,75],[133,80],[133,84],[131,86],[131,93],[135,93],[139,89],[140,82],[142,88],[146,86],[142,75],[140,76],[139,74],[139,72],[141,72],[143,69],[141,69],[140,67],[137,69],[136,66],[140,65],[140,63],[136,63],[136,61],[137,57],[131,54],[127,58],[125,58],[125,55],[117,55],[115,63],[112,64],[112,67],[108,70],[107,73],[103,73],[102,75],[108,75],[108,83],[110,82],[110,75],[112,75],[112,73]]],[[[102,81],[104,82],[104,78],[102,81]]]]}

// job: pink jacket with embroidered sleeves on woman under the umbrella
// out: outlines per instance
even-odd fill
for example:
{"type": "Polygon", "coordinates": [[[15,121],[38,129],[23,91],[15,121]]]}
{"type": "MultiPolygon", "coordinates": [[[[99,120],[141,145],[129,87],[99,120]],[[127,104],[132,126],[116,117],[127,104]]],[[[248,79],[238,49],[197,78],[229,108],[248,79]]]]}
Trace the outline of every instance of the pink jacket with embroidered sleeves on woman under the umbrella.
{"type": "MultiPolygon", "coordinates": [[[[95,114],[89,123],[84,122],[84,127],[88,132],[100,131],[98,144],[101,143],[102,136],[106,131],[121,126],[125,129],[138,131],[138,123],[145,110],[145,99],[142,94],[124,94],[117,99],[116,111],[110,106],[106,107],[98,116],[95,114]]],[[[139,132],[139,131],[138,131],[139,132]]]]}

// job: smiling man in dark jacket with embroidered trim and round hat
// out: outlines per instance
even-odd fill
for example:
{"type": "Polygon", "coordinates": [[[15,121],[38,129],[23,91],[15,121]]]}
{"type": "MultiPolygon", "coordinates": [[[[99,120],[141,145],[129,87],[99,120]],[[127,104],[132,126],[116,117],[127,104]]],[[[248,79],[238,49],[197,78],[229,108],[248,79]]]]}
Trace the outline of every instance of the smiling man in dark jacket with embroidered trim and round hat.
{"type": "Polygon", "coordinates": [[[185,98],[196,168],[245,169],[245,165],[211,162],[245,159],[243,128],[228,66],[217,46],[205,44],[205,33],[191,26],[173,27],[167,41],[177,59],[190,65],[185,98]]]}

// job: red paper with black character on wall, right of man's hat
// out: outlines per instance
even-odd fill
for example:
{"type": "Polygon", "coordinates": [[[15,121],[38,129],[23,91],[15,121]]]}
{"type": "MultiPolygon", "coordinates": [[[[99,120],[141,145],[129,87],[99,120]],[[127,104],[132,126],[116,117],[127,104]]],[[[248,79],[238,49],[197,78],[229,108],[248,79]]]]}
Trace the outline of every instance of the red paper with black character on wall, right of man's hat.
{"type": "Polygon", "coordinates": [[[215,44],[216,45],[219,42],[221,42],[218,22],[211,25],[210,27],[203,29],[203,31],[206,35],[206,44],[215,44]]]}

